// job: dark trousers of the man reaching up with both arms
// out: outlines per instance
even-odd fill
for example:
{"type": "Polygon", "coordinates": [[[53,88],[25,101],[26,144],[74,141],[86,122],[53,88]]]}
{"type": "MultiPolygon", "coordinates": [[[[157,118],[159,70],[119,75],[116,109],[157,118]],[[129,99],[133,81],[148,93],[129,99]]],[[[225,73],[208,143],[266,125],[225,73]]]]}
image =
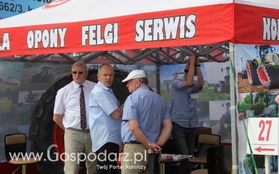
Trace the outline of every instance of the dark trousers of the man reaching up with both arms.
{"type": "MultiPolygon", "coordinates": [[[[185,128],[172,122],[171,136],[178,154],[194,155],[196,128],[185,128]]],[[[190,174],[192,167],[188,160],[181,161],[180,166],[185,174],[190,174]]]]}

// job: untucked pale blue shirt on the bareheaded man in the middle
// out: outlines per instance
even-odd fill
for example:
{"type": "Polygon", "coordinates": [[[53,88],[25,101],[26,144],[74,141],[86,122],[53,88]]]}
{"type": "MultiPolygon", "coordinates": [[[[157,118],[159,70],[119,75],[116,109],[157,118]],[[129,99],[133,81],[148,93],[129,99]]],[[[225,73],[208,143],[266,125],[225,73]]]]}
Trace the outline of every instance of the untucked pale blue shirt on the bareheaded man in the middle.
{"type": "Polygon", "coordinates": [[[121,118],[114,119],[110,116],[118,108],[119,103],[113,90],[98,82],[91,91],[89,99],[89,128],[93,152],[96,152],[107,142],[123,145],[121,118]]]}

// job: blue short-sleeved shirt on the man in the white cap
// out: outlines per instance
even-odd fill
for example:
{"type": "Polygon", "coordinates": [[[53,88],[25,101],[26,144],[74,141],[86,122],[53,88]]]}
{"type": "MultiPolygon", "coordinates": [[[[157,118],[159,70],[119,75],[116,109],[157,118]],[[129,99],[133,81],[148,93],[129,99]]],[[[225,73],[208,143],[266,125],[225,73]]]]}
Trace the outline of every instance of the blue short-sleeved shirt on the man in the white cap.
{"type": "Polygon", "coordinates": [[[159,137],[162,120],[169,118],[169,108],[162,97],[147,86],[140,87],[125,101],[121,125],[122,141],[137,140],[130,131],[128,120],[138,120],[139,128],[152,142],[159,137]]]}

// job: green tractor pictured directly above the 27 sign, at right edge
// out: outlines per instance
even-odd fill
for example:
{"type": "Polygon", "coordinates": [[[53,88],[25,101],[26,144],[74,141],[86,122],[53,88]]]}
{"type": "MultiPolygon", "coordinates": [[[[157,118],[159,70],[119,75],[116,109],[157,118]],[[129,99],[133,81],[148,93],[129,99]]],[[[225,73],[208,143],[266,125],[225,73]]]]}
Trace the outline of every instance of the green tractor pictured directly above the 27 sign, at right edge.
{"type": "Polygon", "coordinates": [[[277,94],[265,93],[264,102],[266,103],[266,107],[259,117],[278,117],[278,104],[275,102],[276,96],[277,94]]]}

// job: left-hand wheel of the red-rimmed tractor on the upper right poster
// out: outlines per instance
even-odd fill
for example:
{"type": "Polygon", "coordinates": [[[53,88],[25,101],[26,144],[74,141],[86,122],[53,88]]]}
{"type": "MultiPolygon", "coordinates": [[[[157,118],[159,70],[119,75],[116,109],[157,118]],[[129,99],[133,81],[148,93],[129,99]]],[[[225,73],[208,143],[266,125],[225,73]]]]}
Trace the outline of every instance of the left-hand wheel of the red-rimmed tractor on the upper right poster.
{"type": "Polygon", "coordinates": [[[250,85],[260,85],[260,81],[258,78],[258,73],[257,73],[257,61],[254,60],[247,60],[246,61],[246,69],[247,69],[247,75],[248,75],[248,80],[250,85]]]}

